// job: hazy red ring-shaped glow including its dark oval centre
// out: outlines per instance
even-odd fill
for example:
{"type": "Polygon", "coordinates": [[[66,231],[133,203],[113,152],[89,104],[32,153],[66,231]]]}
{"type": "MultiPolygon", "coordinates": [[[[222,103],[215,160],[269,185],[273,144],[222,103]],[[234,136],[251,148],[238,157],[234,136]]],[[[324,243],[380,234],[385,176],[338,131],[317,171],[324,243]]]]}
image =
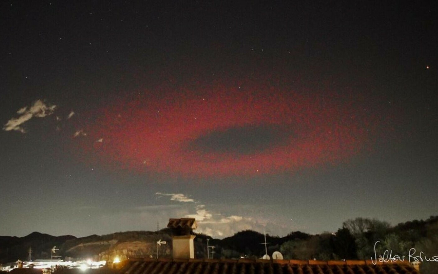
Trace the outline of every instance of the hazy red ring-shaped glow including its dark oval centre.
{"type": "Polygon", "coordinates": [[[78,140],[82,156],[112,168],[195,177],[345,161],[372,143],[378,127],[363,102],[225,87],[164,98],[145,92],[98,111],[78,140]]]}

